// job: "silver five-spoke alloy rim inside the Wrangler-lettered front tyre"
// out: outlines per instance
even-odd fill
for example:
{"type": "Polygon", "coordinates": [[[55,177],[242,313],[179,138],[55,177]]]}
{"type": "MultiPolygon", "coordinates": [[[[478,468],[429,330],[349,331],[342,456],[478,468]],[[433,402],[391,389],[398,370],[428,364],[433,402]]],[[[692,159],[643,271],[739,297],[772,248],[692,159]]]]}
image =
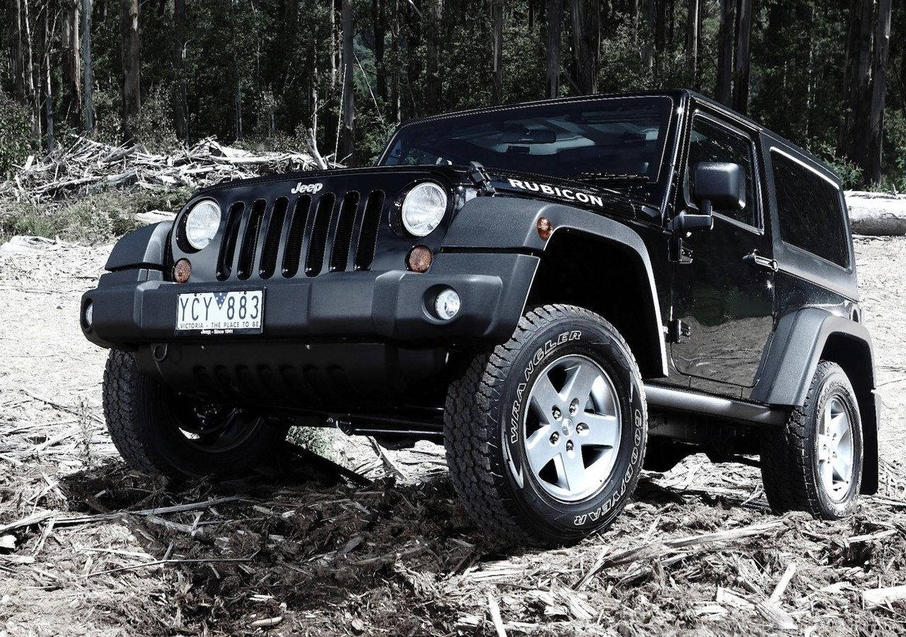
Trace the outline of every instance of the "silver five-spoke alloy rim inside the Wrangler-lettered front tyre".
{"type": "Polygon", "coordinates": [[[575,502],[599,491],[620,450],[620,402],[610,377],[581,354],[545,367],[523,418],[525,455],[548,495],[575,502]]]}

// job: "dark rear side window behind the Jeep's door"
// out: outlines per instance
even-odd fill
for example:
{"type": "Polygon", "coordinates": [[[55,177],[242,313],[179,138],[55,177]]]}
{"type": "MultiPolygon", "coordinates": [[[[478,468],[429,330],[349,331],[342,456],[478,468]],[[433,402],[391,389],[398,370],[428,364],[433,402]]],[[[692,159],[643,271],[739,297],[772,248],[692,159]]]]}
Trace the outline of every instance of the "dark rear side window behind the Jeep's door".
{"type": "Polygon", "coordinates": [[[849,266],[840,189],[786,155],[771,151],[780,237],[836,265],[849,266]]]}

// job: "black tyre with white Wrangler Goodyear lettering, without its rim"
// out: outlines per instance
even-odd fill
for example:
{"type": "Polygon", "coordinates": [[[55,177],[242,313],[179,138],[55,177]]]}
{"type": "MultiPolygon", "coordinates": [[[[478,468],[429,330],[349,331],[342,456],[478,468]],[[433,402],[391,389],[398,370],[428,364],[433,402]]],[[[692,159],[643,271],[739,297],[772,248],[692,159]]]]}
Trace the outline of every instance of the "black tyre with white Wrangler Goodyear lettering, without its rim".
{"type": "Polygon", "coordinates": [[[639,367],[612,324],[582,307],[536,307],[522,316],[507,343],[478,352],[464,368],[449,386],[444,438],[453,486],[479,526],[510,544],[543,546],[574,544],[609,526],[638,483],[648,435],[639,367]],[[517,457],[522,434],[512,419],[527,409],[523,395],[533,372],[573,353],[592,358],[610,376],[620,402],[621,443],[600,491],[557,502],[525,470],[525,456],[517,457]]]}

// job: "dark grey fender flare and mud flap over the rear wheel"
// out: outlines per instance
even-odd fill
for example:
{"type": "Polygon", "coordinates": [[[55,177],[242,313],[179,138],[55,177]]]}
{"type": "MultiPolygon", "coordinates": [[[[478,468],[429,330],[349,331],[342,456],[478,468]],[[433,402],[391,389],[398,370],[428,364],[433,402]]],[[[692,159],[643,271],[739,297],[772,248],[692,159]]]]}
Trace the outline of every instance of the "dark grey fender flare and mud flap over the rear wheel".
{"type": "Polygon", "coordinates": [[[862,492],[873,494],[878,488],[880,412],[874,393],[872,336],[863,324],[818,307],[786,314],[777,323],[750,400],[785,407],[804,405],[814,370],[823,358],[848,368],[862,419],[862,492]]]}

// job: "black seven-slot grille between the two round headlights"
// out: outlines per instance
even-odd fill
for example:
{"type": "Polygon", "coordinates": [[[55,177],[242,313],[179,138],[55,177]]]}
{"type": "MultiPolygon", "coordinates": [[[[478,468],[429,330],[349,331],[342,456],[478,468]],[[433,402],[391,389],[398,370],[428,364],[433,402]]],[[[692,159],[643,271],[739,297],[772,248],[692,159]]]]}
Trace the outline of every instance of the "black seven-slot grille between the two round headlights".
{"type": "Polygon", "coordinates": [[[381,190],[236,201],[226,217],[217,280],[367,270],[383,205],[381,190]]]}

